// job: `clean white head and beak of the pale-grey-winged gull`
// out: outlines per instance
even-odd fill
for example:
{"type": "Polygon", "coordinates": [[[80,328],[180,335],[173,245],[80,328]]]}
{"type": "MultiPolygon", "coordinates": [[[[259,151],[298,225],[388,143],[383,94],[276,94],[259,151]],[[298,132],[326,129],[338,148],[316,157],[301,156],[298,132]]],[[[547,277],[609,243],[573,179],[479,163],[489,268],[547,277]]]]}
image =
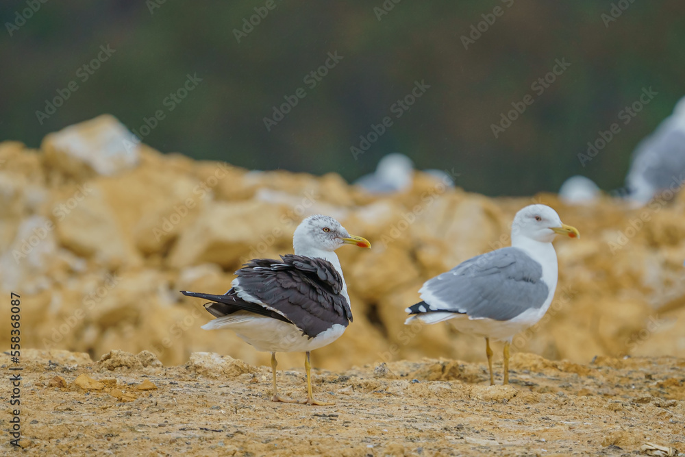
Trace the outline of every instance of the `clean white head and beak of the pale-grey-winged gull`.
{"type": "Polygon", "coordinates": [[[562,223],[559,214],[547,205],[530,205],[516,213],[512,223],[512,246],[516,240],[528,238],[540,243],[551,243],[557,234],[580,237],[575,227],[562,223]]]}

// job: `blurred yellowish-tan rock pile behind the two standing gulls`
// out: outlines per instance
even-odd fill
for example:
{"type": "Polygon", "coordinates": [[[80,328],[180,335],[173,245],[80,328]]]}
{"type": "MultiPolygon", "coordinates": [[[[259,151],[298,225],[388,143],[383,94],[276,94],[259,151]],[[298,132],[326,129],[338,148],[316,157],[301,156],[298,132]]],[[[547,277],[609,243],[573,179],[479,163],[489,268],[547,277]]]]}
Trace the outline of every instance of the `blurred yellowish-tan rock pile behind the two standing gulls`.
{"type": "MultiPolygon", "coordinates": [[[[21,295],[22,345],[85,352],[147,350],[166,365],[214,351],[266,364],[180,289],[225,293],[254,257],[292,252],[292,232],[324,212],[373,249],[338,251],[354,322],[314,352],[317,367],[423,356],[481,360],[484,344],[445,323],[403,325],[429,277],[508,245],[516,210],[546,203],[580,240],[558,240],[560,281],[543,321],[512,351],[588,362],[595,355],[685,356],[685,199],[640,210],[610,197],[565,206],[556,195],[490,199],[416,173],[381,197],[338,175],[247,171],[145,146],[111,116],[67,127],[40,150],[0,143],[0,289],[21,295]],[[131,149],[133,147],[134,149],[131,149]],[[132,152],[133,151],[133,152],[132,152]]],[[[9,306],[0,319],[8,322],[9,306]]],[[[8,344],[9,332],[0,332],[8,344]]],[[[499,351],[496,351],[499,354],[499,351]]],[[[301,354],[279,356],[301,366],[301,354]]]]}

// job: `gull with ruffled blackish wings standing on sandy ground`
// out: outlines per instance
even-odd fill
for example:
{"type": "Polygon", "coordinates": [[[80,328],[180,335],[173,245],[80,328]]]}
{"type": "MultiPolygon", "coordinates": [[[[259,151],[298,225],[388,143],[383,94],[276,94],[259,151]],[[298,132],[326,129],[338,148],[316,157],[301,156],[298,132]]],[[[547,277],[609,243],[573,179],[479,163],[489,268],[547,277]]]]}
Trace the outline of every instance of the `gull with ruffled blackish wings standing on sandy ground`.
{"type": "Polygon", "coordinates": [[[229,328],[258,351],[271,352],[274,402],[329,404],[312,397],[310,351],[336,341],[352,321],[347,285],[334,252],[345,244],[371,247],[332,217],[315,214],[295,229],[294,255],[251,260],[236,271],[225,295],[182,291],[212,301],[205,308],[216,319],[203,329],[229,328]],[[276,353],[300,351],[306,352],[307,399],[279,397],[276,353]]]}

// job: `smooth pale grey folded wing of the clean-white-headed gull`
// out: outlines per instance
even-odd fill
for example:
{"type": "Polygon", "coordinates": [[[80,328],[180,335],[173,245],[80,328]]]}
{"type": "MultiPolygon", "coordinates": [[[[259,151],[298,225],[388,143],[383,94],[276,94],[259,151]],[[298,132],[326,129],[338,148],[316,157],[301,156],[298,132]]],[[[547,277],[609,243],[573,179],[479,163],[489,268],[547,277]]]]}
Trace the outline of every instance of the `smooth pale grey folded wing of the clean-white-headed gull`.
{"type": "Polygon", "coordinates": [[[428,312],[458,312],[496,321],[545,303],[542,266],[524,251],[505,247],[476,256],[428,280],[419,291],[428,312]]]}

